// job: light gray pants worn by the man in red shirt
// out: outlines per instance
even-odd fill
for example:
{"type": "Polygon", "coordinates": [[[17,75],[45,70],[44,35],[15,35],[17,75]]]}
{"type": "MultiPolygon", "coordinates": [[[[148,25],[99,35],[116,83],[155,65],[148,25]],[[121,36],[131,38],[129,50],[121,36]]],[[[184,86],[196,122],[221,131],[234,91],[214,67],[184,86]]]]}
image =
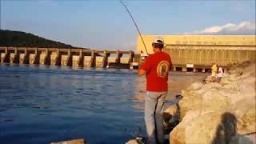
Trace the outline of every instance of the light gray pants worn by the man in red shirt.
{"type": "Polygon", "coordinates": [[[167,92],[150,92],[146,93],[145,102],[145,122],[146,132],[150,144],[163,143],[163,104],[166,102],[167,92]]]}

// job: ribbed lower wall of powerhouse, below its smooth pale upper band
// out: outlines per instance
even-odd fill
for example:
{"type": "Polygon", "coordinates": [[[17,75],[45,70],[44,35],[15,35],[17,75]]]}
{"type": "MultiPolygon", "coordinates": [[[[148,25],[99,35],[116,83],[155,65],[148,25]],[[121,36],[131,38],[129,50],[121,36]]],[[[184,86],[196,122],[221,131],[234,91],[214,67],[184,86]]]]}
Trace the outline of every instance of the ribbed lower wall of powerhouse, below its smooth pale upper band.
{"type": "Polygon", "coordinates": [[[213,62],[219,66],[251,61],[255,62],[255,45],[166,45],[164,49],[170,54],[176,68],[186,71],[191,68],[205,71],[210,69],[213,62]]]}

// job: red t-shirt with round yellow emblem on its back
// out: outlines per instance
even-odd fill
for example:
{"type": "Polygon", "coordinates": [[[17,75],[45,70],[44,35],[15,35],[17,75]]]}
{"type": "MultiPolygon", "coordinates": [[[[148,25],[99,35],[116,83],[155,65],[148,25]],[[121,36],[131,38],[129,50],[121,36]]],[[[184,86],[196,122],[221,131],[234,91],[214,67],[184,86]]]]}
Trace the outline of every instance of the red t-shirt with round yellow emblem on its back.
{"type": "Polygon", "coordinates": [[[150,54],[141,69],[146,71],[146,90],[164,92],[168,90],[168,73],[172,66],[170,55],[159,51],[150,54]]]}

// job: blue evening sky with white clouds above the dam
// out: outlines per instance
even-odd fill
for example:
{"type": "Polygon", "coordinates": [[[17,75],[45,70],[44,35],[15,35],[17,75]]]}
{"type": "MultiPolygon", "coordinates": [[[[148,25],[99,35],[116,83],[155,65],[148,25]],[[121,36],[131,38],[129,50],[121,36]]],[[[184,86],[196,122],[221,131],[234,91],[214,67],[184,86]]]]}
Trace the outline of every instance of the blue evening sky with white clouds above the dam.
{"type": "MultiPolygon", "coordinates": [[[[142,34],[255,34],[254,0],[123,0],[142,34]]],[[[94,50],[136,50],[138,31],[114,0],[1,0],[1,30],[94,50]]]]}

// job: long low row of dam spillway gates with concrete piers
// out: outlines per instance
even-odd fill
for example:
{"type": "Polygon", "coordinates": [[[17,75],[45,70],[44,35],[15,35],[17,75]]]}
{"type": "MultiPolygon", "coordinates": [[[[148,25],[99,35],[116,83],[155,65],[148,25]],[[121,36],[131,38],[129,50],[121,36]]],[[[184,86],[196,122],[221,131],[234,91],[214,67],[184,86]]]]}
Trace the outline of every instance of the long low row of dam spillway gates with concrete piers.
{"type": "Polygon", "coordinates": [[[7,63],[85,67],[107,67],[110,63],[118,63],[133,68],[134,60],[133,51],[31,47],[0,47],[0,56],[0,62],[7,63]]]}

